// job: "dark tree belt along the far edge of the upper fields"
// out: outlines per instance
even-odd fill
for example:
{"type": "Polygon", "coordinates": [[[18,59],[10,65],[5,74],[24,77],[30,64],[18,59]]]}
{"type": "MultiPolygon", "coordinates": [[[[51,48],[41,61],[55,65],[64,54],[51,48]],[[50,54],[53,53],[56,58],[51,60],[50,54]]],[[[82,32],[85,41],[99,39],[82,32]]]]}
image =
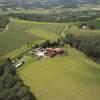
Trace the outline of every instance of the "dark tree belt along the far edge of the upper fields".
{"type": "MultiPolygon", "coordinates": [[[[79,12],[78,12],[79,13],[79,12]]],[[[38,21],[38,22],[76,22],[76,21],[91,21],[96,19],[96,16],[81,17],[81,15],[73,13],[62,13],[61,14],[25,14],[25,13],[15,13],[9,14],[10,17],[19,18],[22,20],[38,21]]],[[[83,14],[84,15],[84,14],[83,14]]]]}

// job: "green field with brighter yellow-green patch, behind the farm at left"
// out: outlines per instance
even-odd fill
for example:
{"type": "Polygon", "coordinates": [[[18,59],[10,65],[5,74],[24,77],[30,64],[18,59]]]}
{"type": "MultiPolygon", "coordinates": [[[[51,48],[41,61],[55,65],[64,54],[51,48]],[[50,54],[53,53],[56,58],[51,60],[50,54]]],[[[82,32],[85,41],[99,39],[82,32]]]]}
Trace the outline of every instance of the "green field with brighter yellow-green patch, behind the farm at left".
{"type": "Polygon", "coordinates": [[[65,24],[14,20],[8,30],[0,35],[0,56],[16,51],[27,42],[55,40],[65,24]]]}

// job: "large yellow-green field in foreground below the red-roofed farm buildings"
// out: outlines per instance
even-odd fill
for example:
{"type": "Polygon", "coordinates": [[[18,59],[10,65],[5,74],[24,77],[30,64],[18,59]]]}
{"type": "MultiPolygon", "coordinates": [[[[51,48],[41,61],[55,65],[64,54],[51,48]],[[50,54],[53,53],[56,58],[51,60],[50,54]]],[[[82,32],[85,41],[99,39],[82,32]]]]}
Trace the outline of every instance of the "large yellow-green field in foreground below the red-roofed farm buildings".
{"type": "Polygon", "coordinates": [[[100,66],[73,48],[70,53],[18,69],[37,100],[100,100],[100,66]]]}

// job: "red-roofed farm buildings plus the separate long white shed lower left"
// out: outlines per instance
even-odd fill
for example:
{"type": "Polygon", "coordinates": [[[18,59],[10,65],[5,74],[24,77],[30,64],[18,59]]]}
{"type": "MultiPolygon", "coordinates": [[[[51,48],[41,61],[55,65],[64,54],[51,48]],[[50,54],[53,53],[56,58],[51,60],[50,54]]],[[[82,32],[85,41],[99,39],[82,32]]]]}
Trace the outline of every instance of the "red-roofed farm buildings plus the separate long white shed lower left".
{"type": "MultiPolygon", "coordinates": [[[[39,58],[41,57],[50,57],[53,58],[57,55],[68,55],[67,52],[63,48],[36,48],[32,50],[32,55],[35,55],[39,58]]],[[[19,68],[22,66],[24,63],[26,63],[28,60],[28,57],[22,57],[20,60],[18,60],[15,63],[15,67],[19,68]]]]}

